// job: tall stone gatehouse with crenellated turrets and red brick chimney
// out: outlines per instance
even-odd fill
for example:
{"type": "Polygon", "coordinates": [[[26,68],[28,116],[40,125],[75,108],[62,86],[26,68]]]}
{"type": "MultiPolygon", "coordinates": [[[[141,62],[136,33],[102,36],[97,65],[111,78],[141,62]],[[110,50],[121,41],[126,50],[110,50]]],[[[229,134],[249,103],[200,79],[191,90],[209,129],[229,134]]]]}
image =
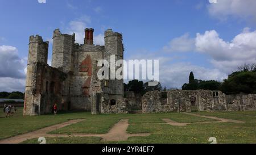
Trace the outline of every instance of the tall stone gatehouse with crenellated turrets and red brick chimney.
{"type": "Polygon", "coordinates": [[[105,31],[101,46],[93,44],[93,31],[85,29],[81,45],[75,43],[75,33],[53,31],[52,66],[47,65],[48,42],[39,35],[30,37],[24,115],[47,114],[55,103],[59,110],[127,113],[123,80],[97,77],[98,61],[123,59],[122,34],[105,31]]]}

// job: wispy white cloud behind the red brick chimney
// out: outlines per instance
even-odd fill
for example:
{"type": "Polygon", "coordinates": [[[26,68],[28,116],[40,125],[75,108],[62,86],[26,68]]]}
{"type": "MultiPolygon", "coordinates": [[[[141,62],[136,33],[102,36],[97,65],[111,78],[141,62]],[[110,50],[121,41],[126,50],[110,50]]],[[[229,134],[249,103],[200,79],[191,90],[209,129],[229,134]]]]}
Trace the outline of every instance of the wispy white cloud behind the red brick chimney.
{"type": "MultiPolygon", "coordinates": [[[[84,44],[84,29],[91,23],[90,16],[82,16],[77,20],[69,22],[64,33],[76,33],[76,43],[84,44]]],[[[104,35],[99,34],[94,36],[94,44],[104,45],[104,35]]]]}

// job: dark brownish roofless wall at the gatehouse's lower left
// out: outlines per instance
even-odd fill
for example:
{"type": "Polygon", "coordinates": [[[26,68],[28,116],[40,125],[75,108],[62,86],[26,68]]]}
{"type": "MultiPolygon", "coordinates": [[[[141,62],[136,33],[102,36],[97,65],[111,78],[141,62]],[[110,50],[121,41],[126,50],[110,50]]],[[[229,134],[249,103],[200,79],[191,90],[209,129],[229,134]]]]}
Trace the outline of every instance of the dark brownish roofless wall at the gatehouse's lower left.
{"type": "Polygon", "coordinates": [[[27,79],[31,86],[25,92],[24,115],[48,114],[55,103],[59,110],[67,110],[68,98],[62,96],[67,74],[40,63],[32,65],[28,74],[32,81],[27,79]]]}

